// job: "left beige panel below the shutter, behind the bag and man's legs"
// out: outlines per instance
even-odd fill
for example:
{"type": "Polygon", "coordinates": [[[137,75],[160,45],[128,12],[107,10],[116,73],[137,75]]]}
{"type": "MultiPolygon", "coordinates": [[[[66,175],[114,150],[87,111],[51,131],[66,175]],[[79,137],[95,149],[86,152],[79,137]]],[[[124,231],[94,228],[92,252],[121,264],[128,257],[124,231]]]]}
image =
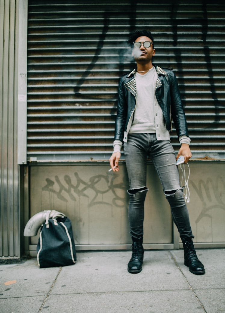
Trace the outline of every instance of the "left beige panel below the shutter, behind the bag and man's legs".
{"type": "MultiPolygon", "coordinates": [[[[77,163],[65,166],[30,166],[30,214],[58,210],[71,222],[79,249],[129,249],[129,182],[125,164],[120,172],[108,172],[109,165],[77,163]],[[107,248],[105,248],[107,247],[107,248]]],[[[173,248],[170,208],[152,165],[146,195],[145,244],[173,248]]],[[[39,235],[31,237],[36,244],[39,235]]]]}

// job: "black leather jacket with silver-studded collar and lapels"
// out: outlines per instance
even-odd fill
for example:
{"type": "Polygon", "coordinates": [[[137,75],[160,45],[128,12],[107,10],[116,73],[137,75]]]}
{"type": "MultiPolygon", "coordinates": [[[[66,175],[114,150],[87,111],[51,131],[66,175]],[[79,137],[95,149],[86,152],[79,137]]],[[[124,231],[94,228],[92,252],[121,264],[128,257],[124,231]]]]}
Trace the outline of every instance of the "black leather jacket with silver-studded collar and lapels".
{"type": "MultiPolygon", "coordinates": [[[[155,66],[158,74],[155,90],[156,99],[162,109],[166,129],[172,130],[172,116],[178,138],[182,135],[188,136],[187,122],[175,74],[171,69],[162,69],[154,64],[153,66],[155,66]]],[[[135,72],[136,69],[120,79],[114,140],[126,141],[133,121],[137,95],[135,72]]]]}

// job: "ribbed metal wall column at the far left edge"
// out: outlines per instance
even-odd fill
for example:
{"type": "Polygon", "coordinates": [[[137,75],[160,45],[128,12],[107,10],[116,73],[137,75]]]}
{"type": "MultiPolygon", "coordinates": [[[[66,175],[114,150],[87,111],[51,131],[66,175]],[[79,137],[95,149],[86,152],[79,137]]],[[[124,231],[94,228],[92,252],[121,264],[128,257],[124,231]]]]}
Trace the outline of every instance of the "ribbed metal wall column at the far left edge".
{"type": "Polygon", "coordinates": [[[17,166],[16,6],[0,1],[0,256],[20,256],[17,166]]]}

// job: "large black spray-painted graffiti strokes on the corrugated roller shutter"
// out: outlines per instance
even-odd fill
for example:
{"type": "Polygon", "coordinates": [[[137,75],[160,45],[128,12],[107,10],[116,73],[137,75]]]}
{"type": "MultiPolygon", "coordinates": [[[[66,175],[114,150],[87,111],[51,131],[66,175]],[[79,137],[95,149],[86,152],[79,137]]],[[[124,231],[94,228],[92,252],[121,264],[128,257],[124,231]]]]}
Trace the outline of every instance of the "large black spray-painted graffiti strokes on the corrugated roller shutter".
{"type": "MultiPolygon", "coordinates": [[[[136,1],[130,1],[129,7],[126,7],[126,10],[121,10],[121,11],[104,11],[102,14],[102,20],[103,20],[103,26],[97,41],[97,46],[95,49],[95,53],[90,60],[87,68],[85,69],[84,73],[82,76],[79,78],[77,81],[75,87],[74,87],[74,94],[80,95],[82,97],[87,97],[87,99],[96,99],[94,96],[91,97],[89,94],[85,95],[84,92],[81,91],[82,85],[85,83],[86,78],[89,77],[90,71],[94,69],[95,64],[99,61],[100,56],[102,53],[104,54],[103,47],[104,47],[104,42],[110,37],[110,27],[112,26],[110,23],[112,23],[114,18],[125,18],[127,17],[129,19],[129,22],[126,26],[127,30],[129,33],[132,33],[136,29],[136,27],[140,26],[139,22],[139,8],[137,7],[136,1]],[[109,37],[108,37],[109,36],[109,37]]],[[[181,74],[179,74],[179,80],[183,86],[183,91],[185,93],[185,75],[182,75],[183,72],[183,62],[185,58],[183,54],[183,47],[179,45],[179,36],[182,34],[182,27],[192,27],[193,25],[199,25],[200,28],[200,36],[199,36],[199,45],[202,47],[202,54],[204,56],[204,66],[205,69],[207,70],[207,77],[208,77],[208,88],[210,91],[210,95],[212,97],[212,104],[215,107],[215,112],[214,112],[214,121],[213,121],[213,126],[216,127],[218,125],[219,127],[219,121],[220,121],[220,114],[219,114],[219,108],[221,106],[224,106],[222,101],[218,98],[217,95],[217,89],[215,85],[215,80],[214,80],[214,72],[213,72],[213,62],[211,59],[211,46],[209,46],[210,41],[208,40],[208,34],[210,33],[210,24],[209,24],[209,18],[208,18],[208,11],[207,11],[207,4],[204,2],[201,4],[201,10],[199,12],[196,12],[193,16],[188,16],[185,18],[186,14],[184,13],[184,17],[181,17],[181,11],[183,11],[184,8],[181,6],[179,3],[174,3],[171,1],[171,3],[167,4],[166,11],[168,11],[168,21],[169,24],[171,25],[171,33],[172,33],[172,45],[173,47],[171,48],[171,51],[175,57],[175,62],[176,62],[176,69],[180,71],[181,74]],[[181,34],[180,34],[181,33],[181,34]]],[[[148,26],[149,28],[151,27],[150,25],[148,26]]],[[[154,33],[154,24],[152,25],[153,28],[153,33],[154,33]]],[[[168,29],[169,31],[169,29],[168,29]]],[[[125,69],[125,63],[127,61],[130,61],[130,69],[133,69],[136,67],[136,64],[134,62],[133,57],[129,59],[128,54],[131,56],[131,49],[128,46],[126,39],[127,39],[127,34],[125,34],[125,40],[123,42],[123,49],[119,49],[118,54],[119,54],[119,77],[121,77],[124,74],[124,69],[125,69]]],[[[157,41],[160,41],[160,39],[155,38],[155,43],[157,41]]],[[[157,57],[157,53],[156,53],[157,57]]],[[[166,53],[165,53],[166,57],[166,53]]],[[[110,65],[110,59],[108,58],[108,66],[113,66],[110,65]]],[[[110,96],[107,95],[106,100],[109,100],[110,96]]],[[[116,100],[115,96],[111,96],[111,100],[116,100]]],[[[186,96],[182,97],[182,102],[185,105],[186,102],[186,96]]],[[[116,103],[115,103],[116,104],[116,103]]],[[[112,115],[115,114],[115,110],[112,111],[112,115]]],[[[212,122],[210,122],[209,127],[212,127],[211,125],[212,122]]]]}

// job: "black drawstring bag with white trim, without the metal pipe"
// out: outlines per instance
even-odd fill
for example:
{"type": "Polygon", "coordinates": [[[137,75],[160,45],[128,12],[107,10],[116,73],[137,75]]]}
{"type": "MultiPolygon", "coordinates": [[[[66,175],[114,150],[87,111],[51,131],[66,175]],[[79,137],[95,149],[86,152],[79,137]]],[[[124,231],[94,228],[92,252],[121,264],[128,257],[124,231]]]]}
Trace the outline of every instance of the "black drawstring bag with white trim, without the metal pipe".
{"type": "Polygon", "coordinates": [[[46,222],[40,230],[37,261],[40,268],[76,263],[72,225],[64,214],[53,218],[46,217],[46,222]]]}

